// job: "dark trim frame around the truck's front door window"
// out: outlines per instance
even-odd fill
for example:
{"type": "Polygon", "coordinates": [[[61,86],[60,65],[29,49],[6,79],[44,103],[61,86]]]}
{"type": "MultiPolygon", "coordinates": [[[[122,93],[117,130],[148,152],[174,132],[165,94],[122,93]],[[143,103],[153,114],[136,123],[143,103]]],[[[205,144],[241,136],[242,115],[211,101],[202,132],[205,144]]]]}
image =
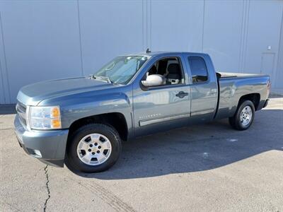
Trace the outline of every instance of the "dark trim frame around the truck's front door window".
{"type": "Polygon", "coordinates": [[[176,88],[176,87],[180,87],[180,86],[186,86],[186,81],[185,81],[185,72],[184,72],[184,68],[183,68],[183,63],[182,63],[182,59],[180,56],[166,56],[166,57],[161,57],[159,59],[156,59],[156,61],[154,62],[154,64],[152,64],[152,66],[149,67],[149,69],[146,69],[146,73],[144,73],[144,76],[141,77],[141,81],[139,81],[139,86],[141,88],[141,90],[158,90],[158,89],[163,89],[163,88],[176,88]],[[182,80],[183,83],[179,83],[179,84],[173,84],[173,85],[163,85],[163,86],[151,86],[151,87],[145,87],[141,81],[143,81],[144,76],[146,76],[146,73],[152,68],[152,66],[154,66],[154,64],[156,64],[157,61],[160,61],[162,59],[170,59],[170,58],[176,58],[179,61],[180,64],[180,71],[182,73],[182,80]]]}

